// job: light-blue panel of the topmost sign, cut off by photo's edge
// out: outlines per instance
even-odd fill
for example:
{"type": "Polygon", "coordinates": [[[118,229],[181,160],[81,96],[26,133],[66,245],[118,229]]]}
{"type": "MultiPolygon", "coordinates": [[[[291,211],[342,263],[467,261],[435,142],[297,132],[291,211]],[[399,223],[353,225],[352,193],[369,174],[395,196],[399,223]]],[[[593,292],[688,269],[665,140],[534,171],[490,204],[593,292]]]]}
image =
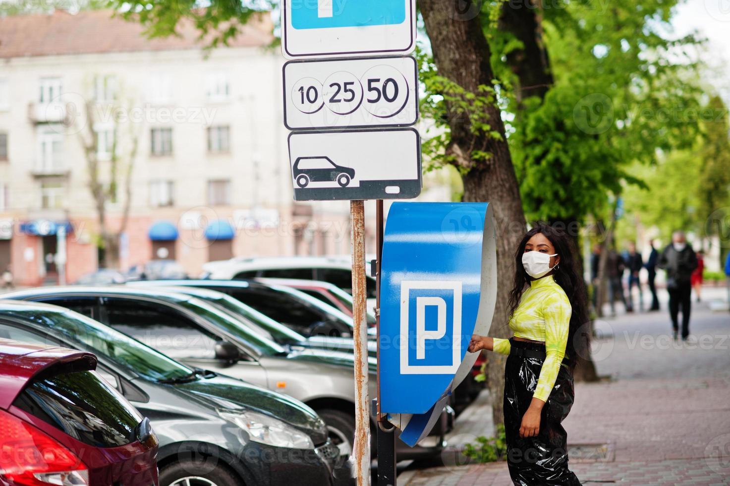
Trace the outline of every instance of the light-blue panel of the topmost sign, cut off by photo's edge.
{"type": "Polygon", "coordinates": [[[301,0],[292,1],[294,29],[385,26],[406,20],[403,0],[301,0]]]}

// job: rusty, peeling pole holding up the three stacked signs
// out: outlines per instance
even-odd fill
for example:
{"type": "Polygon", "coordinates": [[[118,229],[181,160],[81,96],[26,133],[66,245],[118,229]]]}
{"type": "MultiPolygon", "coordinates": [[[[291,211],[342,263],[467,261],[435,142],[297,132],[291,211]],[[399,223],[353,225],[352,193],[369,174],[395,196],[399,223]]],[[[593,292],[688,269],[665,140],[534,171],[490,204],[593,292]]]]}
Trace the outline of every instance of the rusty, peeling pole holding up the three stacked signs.
{"type": "Polygon", "coordinates": [[[350,201],[353,221],[353,324],[355,338],[355,477],[358,486],[370,486],[370,417],[367,362],[365,286],[365,203],[350,201]]]}

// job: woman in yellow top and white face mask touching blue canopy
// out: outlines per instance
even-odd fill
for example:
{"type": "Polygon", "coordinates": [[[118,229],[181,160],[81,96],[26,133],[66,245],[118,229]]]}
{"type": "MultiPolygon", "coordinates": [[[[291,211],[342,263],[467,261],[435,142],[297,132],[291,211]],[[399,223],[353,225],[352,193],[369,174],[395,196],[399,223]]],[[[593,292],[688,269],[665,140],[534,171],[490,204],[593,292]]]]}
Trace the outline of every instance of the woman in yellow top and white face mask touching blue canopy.
{"type": "Polygon", "coordinates": [[[473,335],[469,352],[509,355],[504,368],[504,427],[507,464],[519,486],[580,486],[568,468],[566,431],[561,422],[573,404],[573,375],[588,322],[583,278],[566,233],[538,223],[515,254],[510,292],[510,339],[473,335]],[[576,344],[580,341],[580,349],[576,344]]]}

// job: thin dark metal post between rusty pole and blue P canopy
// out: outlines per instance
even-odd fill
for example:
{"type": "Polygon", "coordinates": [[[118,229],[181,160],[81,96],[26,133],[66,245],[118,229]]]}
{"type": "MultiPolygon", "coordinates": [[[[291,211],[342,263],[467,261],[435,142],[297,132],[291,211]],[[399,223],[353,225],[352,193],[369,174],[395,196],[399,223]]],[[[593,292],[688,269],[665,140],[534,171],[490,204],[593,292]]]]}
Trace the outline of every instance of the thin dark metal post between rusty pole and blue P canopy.
{"type": "MultiPolygon", "coordinates": [[[[383,262],[383,200],[375,208],[377,260],[375,261],[375,322],[380,343],[380,268],[383,262]]],[[[377,346],[377,486],[396,486],[396,428],[380,413],[380,345],[377,346]]]]}

